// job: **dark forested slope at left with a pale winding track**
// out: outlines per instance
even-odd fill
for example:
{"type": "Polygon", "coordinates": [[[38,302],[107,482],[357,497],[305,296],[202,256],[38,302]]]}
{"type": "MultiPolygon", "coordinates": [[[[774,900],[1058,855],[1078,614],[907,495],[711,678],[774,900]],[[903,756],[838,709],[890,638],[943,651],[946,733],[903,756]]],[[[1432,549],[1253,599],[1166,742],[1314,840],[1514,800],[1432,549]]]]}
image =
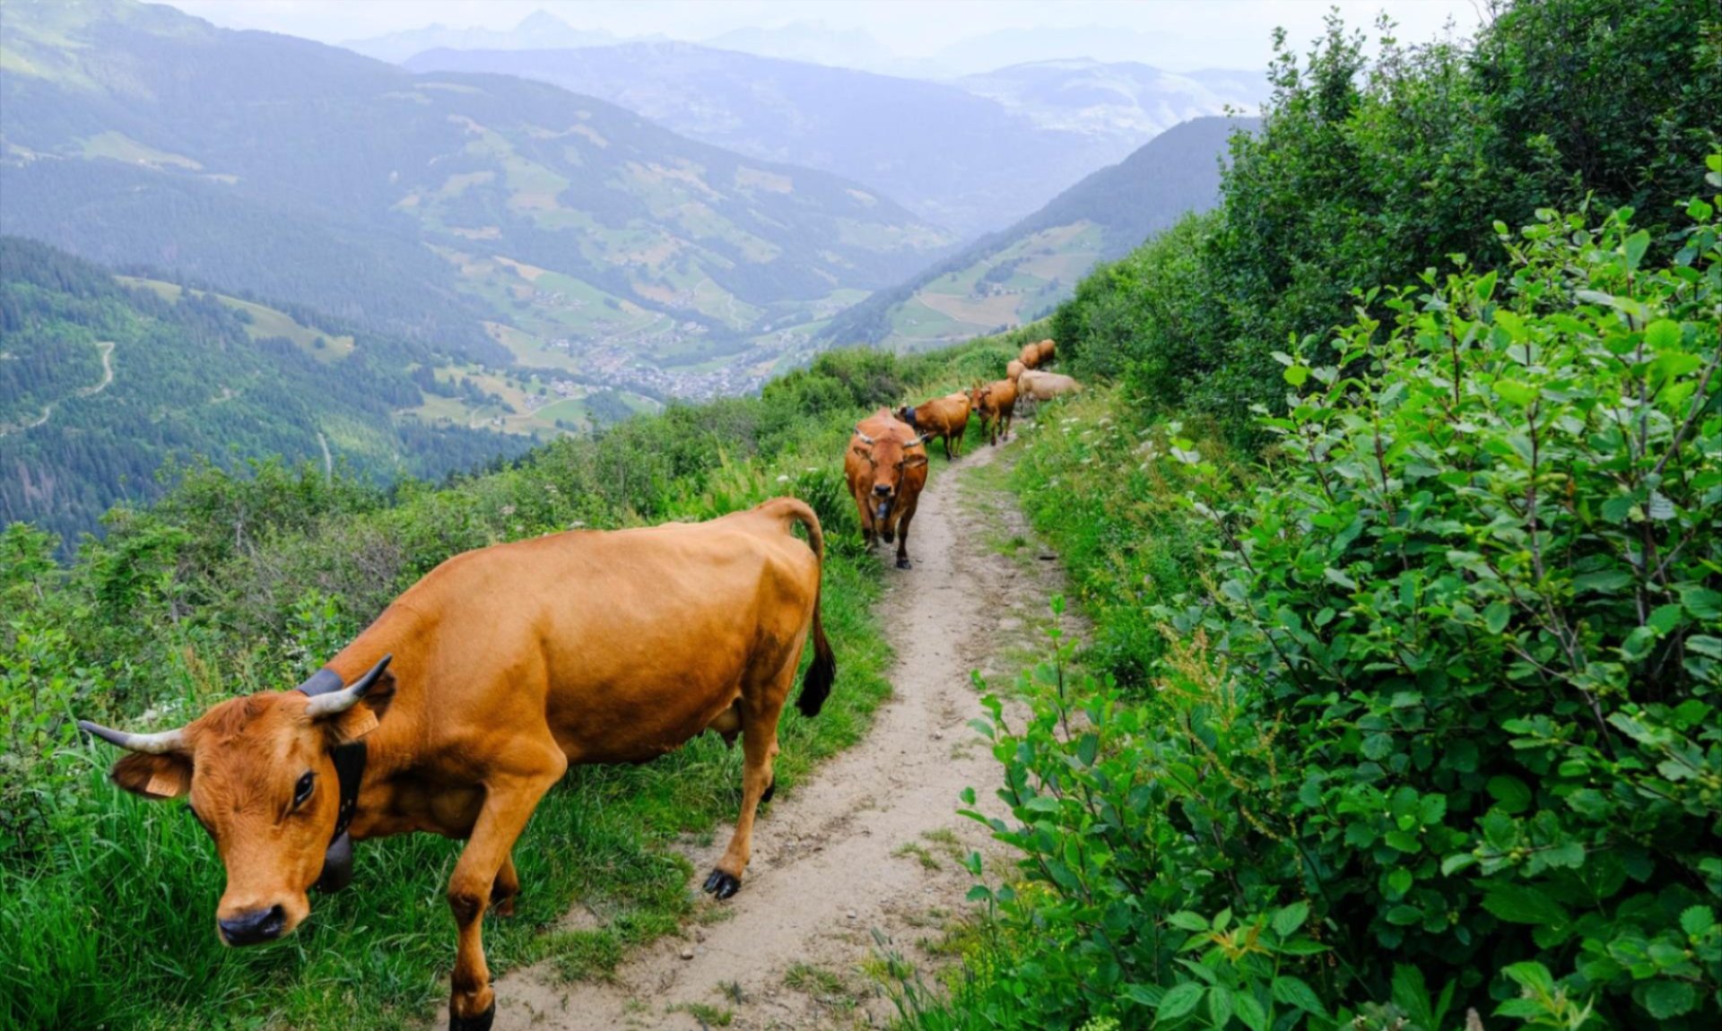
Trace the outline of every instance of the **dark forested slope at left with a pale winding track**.
{"type": "Polygon", "coordinates": [[[441,478],[527,446],[398,415],[424,403],[420,382],[436,384],[408,374],[410,344],[133,282],[0,236],[0,522],[71,544],[112,504],[157,497],[169,458],[441,478]]]}

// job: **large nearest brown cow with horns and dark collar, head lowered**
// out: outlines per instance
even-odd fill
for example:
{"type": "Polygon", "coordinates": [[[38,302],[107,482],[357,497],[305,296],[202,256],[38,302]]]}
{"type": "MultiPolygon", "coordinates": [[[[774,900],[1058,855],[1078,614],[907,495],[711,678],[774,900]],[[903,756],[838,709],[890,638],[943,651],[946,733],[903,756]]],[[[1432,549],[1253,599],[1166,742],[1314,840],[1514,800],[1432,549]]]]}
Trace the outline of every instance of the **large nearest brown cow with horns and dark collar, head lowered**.
{"type": "Polygon", "coordinates": [[[294,929],[313,883],[346,883],[355,840],[467,838],[448,885],[449,1026],[486,1029],[482,916],[513,911],[515,840],[570,764],[642,762],[708,728],[739,732],[740,816],[704,888],[740,886],[809,628],[802,713],[820,711],[835,675],[823,551],[818,516],[792,497],[706,523],[498,544],[432,570],[298,690],[219,702],[165,733],[79,726],[133,752],[114,766],[119,787],[189,795],[227,869],[215,923],[229,945],[294,929]]]}

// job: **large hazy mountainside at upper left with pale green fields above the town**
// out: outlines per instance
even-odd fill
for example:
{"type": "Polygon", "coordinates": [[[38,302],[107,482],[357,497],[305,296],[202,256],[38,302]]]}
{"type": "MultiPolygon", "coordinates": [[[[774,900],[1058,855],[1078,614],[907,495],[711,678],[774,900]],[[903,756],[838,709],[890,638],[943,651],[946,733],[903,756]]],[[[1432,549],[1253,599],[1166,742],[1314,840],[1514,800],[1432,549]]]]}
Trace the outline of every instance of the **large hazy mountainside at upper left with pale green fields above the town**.
{"type": "Polygon", "coordinates": [[[17,0],[0,34],[0,229],[487,363],[591,351],[673,380],[670,358],[782,353],[806,334],[753,341],[951,243],[852,181],[539,83],[131,0],[17,0]]]}

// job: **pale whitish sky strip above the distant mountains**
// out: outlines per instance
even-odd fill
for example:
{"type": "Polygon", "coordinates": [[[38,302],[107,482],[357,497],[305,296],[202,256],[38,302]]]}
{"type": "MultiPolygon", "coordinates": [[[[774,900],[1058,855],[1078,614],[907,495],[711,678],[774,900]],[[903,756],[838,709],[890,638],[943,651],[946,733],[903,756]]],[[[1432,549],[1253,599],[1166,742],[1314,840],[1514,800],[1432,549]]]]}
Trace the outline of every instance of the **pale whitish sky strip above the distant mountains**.
{"type": "MultiPolygon", "coordinates": [[[[737,28],[823,22],[864,29],[904,59],[921,59],[999,29],[1102,28],[1130,34],[1140,57],[1169,71],[1264,69],[1269,31],[1293,41],[1321,33],[1338,7],[1347,24],[1367,28],[1386,10],[1402,40],[1428,40],[1452,19],[1469,34],[1486,0],[170,0],[215,24],[269,29],[325,43],[444,26],[506,29],[544,9],[580,29],[618,36],[704,40],[737,28]]],[[[1047,53],[1045,57],[1083,57],[1047,53]]]]}

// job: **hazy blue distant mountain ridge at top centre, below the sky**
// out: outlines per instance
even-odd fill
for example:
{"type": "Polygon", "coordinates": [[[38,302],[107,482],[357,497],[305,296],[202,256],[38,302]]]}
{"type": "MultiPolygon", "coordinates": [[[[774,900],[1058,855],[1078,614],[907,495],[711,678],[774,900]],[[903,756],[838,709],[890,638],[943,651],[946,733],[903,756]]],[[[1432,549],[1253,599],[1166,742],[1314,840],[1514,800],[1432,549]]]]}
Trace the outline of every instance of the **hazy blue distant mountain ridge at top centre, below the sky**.
{"type": "Polygon", "coordinates": [[[694,139],[858,179],[966,238],[1004,229],[1169,124],[1042,126],[957,84],[692,43],[429,50],[405,67],[506,72],[601,96],[694,139]]]}

